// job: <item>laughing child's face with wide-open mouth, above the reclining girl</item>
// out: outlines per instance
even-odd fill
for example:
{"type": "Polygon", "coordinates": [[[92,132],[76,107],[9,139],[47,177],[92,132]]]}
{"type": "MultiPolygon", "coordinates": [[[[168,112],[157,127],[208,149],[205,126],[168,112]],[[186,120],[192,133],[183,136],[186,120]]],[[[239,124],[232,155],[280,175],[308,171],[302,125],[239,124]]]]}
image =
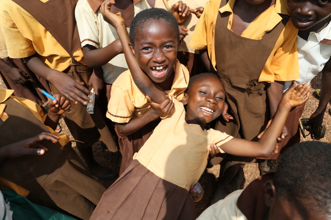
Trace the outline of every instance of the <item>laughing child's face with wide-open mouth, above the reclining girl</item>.
{"type": "Polygon", "coordinates": [[[173,74],[177,59],[177,35],[164,20],[151,20],[138,32],[132,48],[140,68],[156,83],[173,74]]]}

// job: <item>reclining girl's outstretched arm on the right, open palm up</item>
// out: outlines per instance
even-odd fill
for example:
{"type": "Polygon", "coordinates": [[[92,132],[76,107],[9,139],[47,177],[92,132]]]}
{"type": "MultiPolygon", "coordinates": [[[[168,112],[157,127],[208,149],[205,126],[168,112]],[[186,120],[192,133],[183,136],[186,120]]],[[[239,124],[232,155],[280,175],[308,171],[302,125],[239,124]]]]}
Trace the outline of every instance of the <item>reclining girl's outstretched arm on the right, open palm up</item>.
{"type": "Polygon", "coordinates": [[[299,85],[295,88],[295,83],[284,93],[277,112],[269,128],[258,142],[233,138],[223,144],[221,148],[224,152],[244,157],[268,157],[273,152],[276,145],[276,138],[282,131],[288,113],[292,107],[301,105],[309,98],[310,87],[307,84],[299,85]]]}

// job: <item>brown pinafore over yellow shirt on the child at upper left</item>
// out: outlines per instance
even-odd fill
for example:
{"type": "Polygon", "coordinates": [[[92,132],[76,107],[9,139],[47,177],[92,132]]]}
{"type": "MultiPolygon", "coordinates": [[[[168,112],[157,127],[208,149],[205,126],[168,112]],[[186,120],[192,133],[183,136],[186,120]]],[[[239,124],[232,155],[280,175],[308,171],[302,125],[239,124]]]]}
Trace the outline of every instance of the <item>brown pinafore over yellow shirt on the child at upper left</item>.
{"type": "MultiPolygon", "coordinates": [[[[84,82],[85,87],[88,88],[87,83],[92,69],[79,63],[73,57],[75,51],[81,50],[74,18],[78,0],[49,0],[45,3],[39,0],[13,1],[42,24],[71,56],[72,64],[63,72],[84,82]]],[[[52,84],[50,88],[53,93],[59,93],[52,84]]],[[[71,112],[65,112],[63,117],[73,138],[82,142],[76,142],[77,147],[89,147],[100,139],[110,151],[117,151],[117,146],[105,123],[105,113],[101,110],[98,101],[95,102],[94,114],[88,114],[86,106],[78,103],[72,104],[71,112]]]]}

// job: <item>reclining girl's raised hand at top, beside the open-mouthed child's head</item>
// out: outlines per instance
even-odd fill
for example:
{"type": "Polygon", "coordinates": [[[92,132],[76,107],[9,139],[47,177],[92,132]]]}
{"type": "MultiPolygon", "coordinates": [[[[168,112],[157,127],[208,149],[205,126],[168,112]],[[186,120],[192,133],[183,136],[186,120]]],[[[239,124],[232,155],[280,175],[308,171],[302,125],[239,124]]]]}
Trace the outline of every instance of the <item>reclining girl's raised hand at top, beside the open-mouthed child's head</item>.
{"type": "Polygon", "coordinates": [[[116,15],[110,12],[110,8],[114,5],[115,2],[112,0],[104,1],[101,3],[100,11],[105,21],[113,25],[115,28],[124,25],[125,21],[121,16],[120,12],[117,12],[116,15]]]}

